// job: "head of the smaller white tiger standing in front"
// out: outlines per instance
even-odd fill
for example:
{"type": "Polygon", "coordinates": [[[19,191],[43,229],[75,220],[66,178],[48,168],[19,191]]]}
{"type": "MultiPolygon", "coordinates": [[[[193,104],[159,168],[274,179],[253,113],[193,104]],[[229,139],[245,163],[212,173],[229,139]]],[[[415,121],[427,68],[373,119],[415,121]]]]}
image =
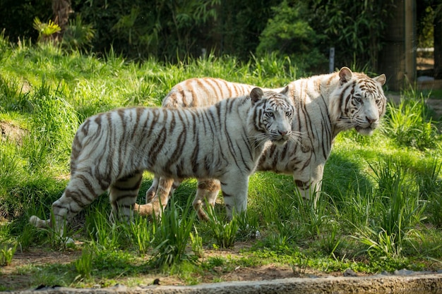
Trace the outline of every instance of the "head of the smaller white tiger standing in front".
{"type": "Polygon", "coordinates": [[[258,130],[256,139],[270,140],[277,145],[291,139],[294,106],[288,92],[289,87],[279,93],[263,92],[258,87],[251,90],[251,101],[256,109],[253,113],[253,125],[258,130]]]}

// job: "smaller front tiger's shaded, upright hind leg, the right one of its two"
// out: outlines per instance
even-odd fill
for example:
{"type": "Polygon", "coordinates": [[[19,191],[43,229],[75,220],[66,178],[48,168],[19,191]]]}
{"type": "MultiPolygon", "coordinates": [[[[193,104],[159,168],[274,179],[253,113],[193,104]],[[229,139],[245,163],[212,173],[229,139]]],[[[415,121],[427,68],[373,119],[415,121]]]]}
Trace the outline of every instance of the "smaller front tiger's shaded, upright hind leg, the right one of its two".
{"type": "Polygon", "coordinates": [[[109,216],[110,221],[129,221],[133,218],[133,209],[140,190],[141,181],[143,180],[143,171],[138,171],[119,178],[109,188],[109,201],[112,206],[112,214],[109,216]]]}

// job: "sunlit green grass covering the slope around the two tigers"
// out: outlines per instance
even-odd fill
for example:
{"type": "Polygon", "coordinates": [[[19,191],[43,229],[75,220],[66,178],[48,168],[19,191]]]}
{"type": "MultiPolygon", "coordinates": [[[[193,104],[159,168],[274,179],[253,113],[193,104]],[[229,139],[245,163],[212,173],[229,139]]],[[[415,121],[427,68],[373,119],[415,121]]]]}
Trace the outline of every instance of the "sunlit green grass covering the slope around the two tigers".
{"type": "MultiPolygon", "coordinates": [[[[209,212],[212,221],[203,223],[189,204],[196,191],[192,179],[176,191],[161,222],[136,217],[130,225],[109,223],[111,209],[102,195],[74,219],[68,235],[80,243],[67,246],[54,232],[32,228],[28,219],[48,216],[66,187],[71,141],[85,118],[120,106],[159,106],[186,78],[280,87],[302,73],[275,56],[249,63],[208,56],[171,65],[125,61],[112,51],[102,59],[66,54],[25,42],[1,48],[0,121],[23,130],[20,142],[11,137],[0,142],[1,278],[16,250],[36,248],[78,257],[67,264],[18,267],[16,274],[33,276],[28,287],[109,286],[121,280],[130,286],[143,283],[148,273],[177,276],[187,284],[207,281],[210,273],[215,282],[237,267],[267,263],[289,266],[296,275],[307,269],[376,273],[442,267],[441,137],[426,96],[412,90],[401,93],[398,105],[388,105],[373,136],[338,135],[316,207],[301,200],[291,176],[256,173],[246,215],[227,222],[220,197],[209,212]],[[224,250],[232,254],[206,254],[224,250]]],[[[152,178],[145,173],[139,203],[152,178]]]]}

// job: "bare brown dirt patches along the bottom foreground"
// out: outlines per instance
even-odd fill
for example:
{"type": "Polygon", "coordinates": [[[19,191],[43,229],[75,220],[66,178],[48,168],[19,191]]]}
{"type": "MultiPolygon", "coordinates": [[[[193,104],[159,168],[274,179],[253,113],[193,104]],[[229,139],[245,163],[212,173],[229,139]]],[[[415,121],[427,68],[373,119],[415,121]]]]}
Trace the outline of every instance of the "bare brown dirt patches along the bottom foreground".
{"type": "MultiPolygon", "coordinates": [[[[239,243],[231,250],[205,250],[205,257],[239,257],[239,250],[249,246],[247,244],[239,243]]],[[[81,255],[81,250],[65,250],[54,251],[44,248],[33,248],[20,252],[17,250],[13,257],[12,263],[6,267],[0,267],[0,285],[11,290],[29,290],[37,286],[43,286],[35,281],[35,277],[26,271],[27,266],[44,267],[49,264],[69,264],[78,259],[81,255]]],[[[147,261],[147,260],[146,260],[147,261]]],[[[122,273],[124,274],[124,273],[122,273]]],[[[214,267],[212,271],[206,271],[204,276],[200,277],[200,283],[213,283],[216,281],[263,281],[273,280],[276,278],[293,278],[293,277],[325,277],[325,276],[343,276],[341,272],[323,273],[306,269],[301,271],[293,270],[288,265],[267,264],[259,267],[237,267],[236,269],[227,271],[222,267],[214,267]]],[[[358,276],[366,276],[358,274],[358,276]]],[[[155,280],[159,281],[160,285],[174,285],[182,286],[182,281],[179,276],[165,276],[164,274],[143,274],[134,277],[117,277],[114,278],[118,283],[126,286],[148,286],[152,285],[155,280]],[[134,284],[135,283],[135,284],[134,284]]],[[[100,281],[93,287],[100,288],[102,285],[100,281]]],[[[156,282],[155,282],[156,283],[156,282]]],[[[44,285],[55,286],[55,285],[44,285]]],[[[113,286],[113,285],[111,285],[113,286]]]]}

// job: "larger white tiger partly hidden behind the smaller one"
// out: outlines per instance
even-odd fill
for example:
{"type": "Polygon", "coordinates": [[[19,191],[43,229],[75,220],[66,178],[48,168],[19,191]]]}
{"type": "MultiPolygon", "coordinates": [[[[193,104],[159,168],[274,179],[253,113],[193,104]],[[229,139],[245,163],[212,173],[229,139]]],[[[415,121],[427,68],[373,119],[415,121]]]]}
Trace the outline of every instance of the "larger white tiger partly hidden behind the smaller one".
{"type": "MultiPolygon", "coordinates": [[[[336,135],[350,128],[362,135],[371,135],[378,127],[386,111],[386,97],[382,90],[385,82],[386,75],[369,78],[346,67],[339,72],[290,82],[289,97],[297,111],[292,128],[303,135],[299,142],[266,147],[256,171],[292,174],[304,198],[316,197],[321,190],[324,165],[336,135]]],[[[252,87],[215,78],[192,78],[175,85],[162,106],[203,106],[244,94],[252,87]],[[205,99],[208,96],[210,100],[205,99]]],[[[146,194],[147,204],[136,206],[136,210],[141,214],[152,214],[153,210],[160,209],[159,202],[165,207],[169,191],[172,195],[178,185],[179,182],[172,186],[169,179],[155,176],[146,194]]],[[[220,184],[216,180],[198,181],[193,207],[200,218],[206,217],[201,205],[205,200],[214,205],[219,190],[220,184]]]]}

